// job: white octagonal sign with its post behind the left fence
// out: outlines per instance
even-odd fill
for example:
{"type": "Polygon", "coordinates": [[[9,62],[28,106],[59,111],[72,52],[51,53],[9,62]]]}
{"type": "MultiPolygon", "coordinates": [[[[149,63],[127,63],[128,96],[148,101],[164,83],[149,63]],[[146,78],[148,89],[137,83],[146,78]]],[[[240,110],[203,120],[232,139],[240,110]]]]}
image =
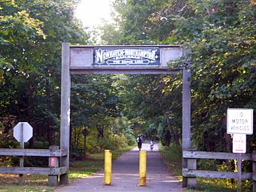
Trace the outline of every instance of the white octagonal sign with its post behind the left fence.
{"type": "MultiPolygon", "coordinates": [[[[14,126],[14,138],[20,142],[20,148],[24,148],[24,142],[32,138],[33,128],[28,122],[19,122],[14,126]]],[[[24,166],[24,156],[20,157],[20,167],[24,166]]],[[[24,184],[23,174],[19,174],[19,184],[24,184]]]]}

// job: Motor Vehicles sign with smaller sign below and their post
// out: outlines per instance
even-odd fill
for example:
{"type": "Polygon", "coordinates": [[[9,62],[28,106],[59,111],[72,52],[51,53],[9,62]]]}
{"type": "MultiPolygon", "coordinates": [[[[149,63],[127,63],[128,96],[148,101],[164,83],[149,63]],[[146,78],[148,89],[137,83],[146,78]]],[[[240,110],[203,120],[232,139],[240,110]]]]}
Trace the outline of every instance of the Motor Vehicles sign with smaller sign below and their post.
{"type": "Polygon", "coordinates": [[[237,158],[237,191],[241,189],[242,160],[241,154],[246,153],[246,135],[253,133],[253,109],[228,108],[227,109],[227,134],[233,135],[233,153],[237,158]]]}

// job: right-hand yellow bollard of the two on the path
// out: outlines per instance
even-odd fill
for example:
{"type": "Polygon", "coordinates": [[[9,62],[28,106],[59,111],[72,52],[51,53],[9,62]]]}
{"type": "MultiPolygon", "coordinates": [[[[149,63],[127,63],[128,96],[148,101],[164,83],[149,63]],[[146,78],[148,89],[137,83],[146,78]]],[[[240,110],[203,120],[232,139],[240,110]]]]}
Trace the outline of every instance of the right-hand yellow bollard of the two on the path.
{"type": "Polygon", "coordinates": [[[147,152],[139,151],[139,186],[146,186],[147,181],[147,152]]]}

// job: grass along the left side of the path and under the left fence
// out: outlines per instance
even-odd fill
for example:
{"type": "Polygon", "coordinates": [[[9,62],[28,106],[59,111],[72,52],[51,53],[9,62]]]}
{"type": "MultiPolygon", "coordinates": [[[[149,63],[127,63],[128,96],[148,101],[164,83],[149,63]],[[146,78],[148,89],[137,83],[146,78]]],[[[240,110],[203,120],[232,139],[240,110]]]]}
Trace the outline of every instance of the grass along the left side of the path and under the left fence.
{"type": "MultiPolygon", "coordinates": [[[[116,160],[121,154],[130,151],[134,146],[128,146],[112,151],[112,159],[116,160]]],[[[90,154],[84,160],[70,163],[69,182],[85,178],[98,172],[104,166],[104,151],[99,154],[90,154]]],[[[47,186],[47,175],[25,175],[25,185],[20,186],[18,175],[0,174],[0,192],[53,192],[57,187],[47,186]]]]}

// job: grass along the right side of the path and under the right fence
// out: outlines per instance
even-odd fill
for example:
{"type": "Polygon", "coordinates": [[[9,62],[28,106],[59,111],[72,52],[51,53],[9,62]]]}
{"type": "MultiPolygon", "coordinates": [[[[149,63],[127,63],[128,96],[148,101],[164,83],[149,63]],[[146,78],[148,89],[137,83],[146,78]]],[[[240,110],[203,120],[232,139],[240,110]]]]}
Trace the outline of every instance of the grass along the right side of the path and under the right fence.
{"type": "MultiPolygon", "coordinates": [[[[182,170],[181,170],[181,148],[175,145],[169,148],[160,145],[160,152],[163,157],[166,166],[180,180],[182,180],[182,170]]],[[[220,178],[197,178],[197,190],[185,190],[186,192],[235,192],[236,182],[232,184],[230,179],[220,179],[220,178]]],[[[242,191],[249,192],[252,191],[251,181],[242,181],[242,191]]]]}

